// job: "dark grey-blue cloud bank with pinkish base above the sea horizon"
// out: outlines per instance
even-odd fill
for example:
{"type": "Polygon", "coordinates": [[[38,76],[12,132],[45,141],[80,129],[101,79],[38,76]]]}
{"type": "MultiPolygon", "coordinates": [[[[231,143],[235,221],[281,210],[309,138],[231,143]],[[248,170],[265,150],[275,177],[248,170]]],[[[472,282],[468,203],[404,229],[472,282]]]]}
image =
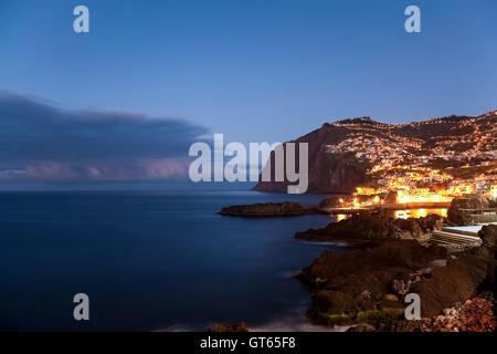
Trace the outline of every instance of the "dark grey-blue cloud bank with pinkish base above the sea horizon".
{"type": "Polygon", "coordinates": [[[181,178],[205,133],[184,119],[64,110],[0,91],[0,180],[181,178]]]}

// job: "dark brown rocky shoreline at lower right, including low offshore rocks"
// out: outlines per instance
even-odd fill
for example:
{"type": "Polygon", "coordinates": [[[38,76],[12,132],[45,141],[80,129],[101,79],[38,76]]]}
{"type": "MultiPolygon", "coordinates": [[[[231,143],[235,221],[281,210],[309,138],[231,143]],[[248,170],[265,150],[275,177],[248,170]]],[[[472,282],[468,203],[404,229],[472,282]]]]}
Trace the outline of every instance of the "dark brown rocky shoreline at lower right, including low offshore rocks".
{"type": "MultiPolygon", "coordinates": [[[[497,225],[482,228],[478,244],[429,242],[444,225],[468,222],[468,205],[479,206],[480,201],[454,200],[448,219],[436,215],[393,219],[385,210],[368,210],[322,229],[297,232],[295,237],[306,241],[362,246],[346,252],[324,251],[296,275],[310,292],[308,319],[329,327],[350,325],[349,331],[494,331],[497,225]],[[404,317],[409,293],[420,295],[420,321],[404,317]]],[[[304,212],[300,207],[269,204],[229,210],[285,215],[288,210],[304,212]]],[[[226,324],[218,326],[221,329],[246,330],[226,324]]]]}

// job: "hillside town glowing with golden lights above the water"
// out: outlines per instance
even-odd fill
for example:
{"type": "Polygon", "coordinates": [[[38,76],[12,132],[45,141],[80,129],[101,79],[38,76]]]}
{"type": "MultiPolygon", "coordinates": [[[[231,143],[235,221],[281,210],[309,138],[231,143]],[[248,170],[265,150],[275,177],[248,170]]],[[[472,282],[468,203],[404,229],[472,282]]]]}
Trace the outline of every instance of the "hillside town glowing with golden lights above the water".
{"type": "Polygon", "coordinates": [[[399,132],[422,131],[424,125],[433,126],[438,119],[398,125],[370,118],[335,123],[334,126],[346,127],[348,133],[339,144],[327,145],[326,153],[364,164],[368,175],[368,183],[358,187],[352,198],[340,199],[341,206],[430,202],[443,206],[453,198],[469,195],[496,199],[496,118],[497,111],[461,119],[456,134],[451,134],[453,126],[427,139],[402,136],[399,132]]]}

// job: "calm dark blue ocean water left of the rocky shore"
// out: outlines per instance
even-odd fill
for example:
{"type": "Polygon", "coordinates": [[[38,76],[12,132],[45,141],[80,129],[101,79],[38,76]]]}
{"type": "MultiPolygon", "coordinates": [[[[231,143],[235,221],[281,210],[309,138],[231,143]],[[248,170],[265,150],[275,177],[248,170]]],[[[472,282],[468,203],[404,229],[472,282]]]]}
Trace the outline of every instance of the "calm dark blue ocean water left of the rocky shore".
{"type": "MultiPolygon", "coordinates": [[[[331,246],[294,233],[327,216],[243,219],[223,206],[324,196],[250,191],[0,194],[1,330],[207,330],[305,324],[290,275],[331,246]],[[73,320],[75,293],[91,321],[73,320]],[[294,323],[295,322],[295,323],[294,323]]],[[[335,248],[339,250],[339,248],[335,248]]]]}

